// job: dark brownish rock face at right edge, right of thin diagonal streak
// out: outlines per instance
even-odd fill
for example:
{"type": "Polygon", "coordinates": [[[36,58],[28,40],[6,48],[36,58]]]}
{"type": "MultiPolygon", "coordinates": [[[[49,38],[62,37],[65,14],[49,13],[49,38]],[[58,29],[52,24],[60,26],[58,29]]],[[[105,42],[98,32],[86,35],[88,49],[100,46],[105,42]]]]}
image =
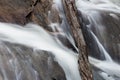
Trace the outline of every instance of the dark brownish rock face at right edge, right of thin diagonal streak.
{"type": "Polygon", "coordinates": [[[103,15],[103,24],[105,24],[105,34],[101,35],[103,45],[105,46],[111,57],[120,62],[120,14],[116,14],[118,18],[110,15],[103,15]]]}

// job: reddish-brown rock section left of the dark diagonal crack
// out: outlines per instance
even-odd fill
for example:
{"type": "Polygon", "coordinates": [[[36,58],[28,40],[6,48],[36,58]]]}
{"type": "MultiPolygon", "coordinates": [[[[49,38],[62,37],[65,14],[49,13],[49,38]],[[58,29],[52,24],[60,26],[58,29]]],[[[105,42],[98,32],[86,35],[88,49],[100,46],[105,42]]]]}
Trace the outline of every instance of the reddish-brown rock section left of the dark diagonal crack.
{"type": "Polygon", "coordinates": [[[0,21],[25,24],[31,0],[0,0],[0,21]]]}

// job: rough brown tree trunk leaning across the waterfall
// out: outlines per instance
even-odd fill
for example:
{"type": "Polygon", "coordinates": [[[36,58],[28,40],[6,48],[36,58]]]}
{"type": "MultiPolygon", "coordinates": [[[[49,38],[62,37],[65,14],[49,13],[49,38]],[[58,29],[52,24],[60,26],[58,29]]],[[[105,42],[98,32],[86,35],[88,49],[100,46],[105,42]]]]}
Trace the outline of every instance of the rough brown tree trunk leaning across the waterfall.
{"type": "Polygon", "coordinates": [[[72,35],[79,49],[79,71],[82,80],[93,80],[92,71],[87,56],[87,46],[83,37],[80,20],[77,18],[77,9],[74,0],[62,0],[64,11],[70,25],[72,35]]]}

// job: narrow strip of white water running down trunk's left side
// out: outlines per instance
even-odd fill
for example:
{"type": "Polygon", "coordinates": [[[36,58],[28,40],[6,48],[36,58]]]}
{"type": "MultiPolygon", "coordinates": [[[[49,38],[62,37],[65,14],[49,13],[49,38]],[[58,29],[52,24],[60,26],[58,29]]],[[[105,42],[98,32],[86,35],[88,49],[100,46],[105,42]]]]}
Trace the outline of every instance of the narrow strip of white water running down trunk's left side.
{"type": "Polygon", "coordinates": [[[54,7],[57,8],[57,10],[59,11],[59,16],[62,19],[62,23],[61,23],[61,27],[67,37],[67,39],[71,42],[71,44],[74,46],[74,48],[76,49],[76,51],[78,51],[76,45],[75,45],[75,41],[73,39],[73,37],[70,34],[70,30],[69,30],[69,24],[67,23],[65,14],[64,14],[64,9],[63,9],[63,4],[62,4],[62,0],[53,0],[54,3],[54,7]]]}

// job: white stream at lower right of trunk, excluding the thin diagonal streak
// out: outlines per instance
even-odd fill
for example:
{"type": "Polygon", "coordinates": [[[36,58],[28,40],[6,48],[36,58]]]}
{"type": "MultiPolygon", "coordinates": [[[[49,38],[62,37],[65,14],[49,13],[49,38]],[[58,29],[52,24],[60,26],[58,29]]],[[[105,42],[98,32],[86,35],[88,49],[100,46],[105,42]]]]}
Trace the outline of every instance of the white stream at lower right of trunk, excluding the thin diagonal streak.
{"type": "MultiPolygon", "coordinates": [[[[110,61],[101,61],[92,57],[89,57],[89,61],[92,65],[95,67],[101,69],[104,73],[106,73],[109,77],[110,76],[117,76],[120,78],[120,65],[115,63],[115,62],[110,62],[110,61]]],[[[101,73],[100,73],[101,74],[101,73]]],[[[106,75],[101,75],[102,77],[105,78],[106,75]]],[[[105,79],[108,80],[108,79],[105,79]]],[[[112,79],[109,79],[112,80],[112,79]]],[[[114,79],[115,80],[115,79],[114,79]]]]}

